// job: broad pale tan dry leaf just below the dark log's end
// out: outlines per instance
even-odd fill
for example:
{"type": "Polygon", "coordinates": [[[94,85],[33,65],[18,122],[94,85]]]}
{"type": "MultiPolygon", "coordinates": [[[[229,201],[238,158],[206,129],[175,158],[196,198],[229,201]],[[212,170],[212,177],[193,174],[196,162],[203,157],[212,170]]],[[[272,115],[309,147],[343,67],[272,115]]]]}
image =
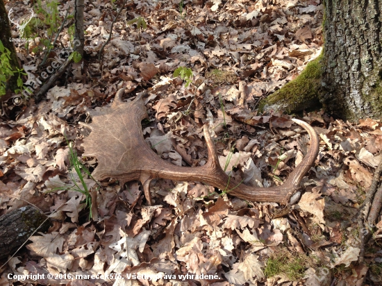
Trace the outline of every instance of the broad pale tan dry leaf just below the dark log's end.
{"type": "Polygon", "coordinates": [[[33,236],[29,238],[33,243],[26,246],[27,249],[31,250],[33,255],[39,255],[43,258],[55,255],[58,249],[59,252],[63,251],[63,243],[65,238],[60,235],[60,233],[53,232],[40,233],[42,236],[33,236]]]}

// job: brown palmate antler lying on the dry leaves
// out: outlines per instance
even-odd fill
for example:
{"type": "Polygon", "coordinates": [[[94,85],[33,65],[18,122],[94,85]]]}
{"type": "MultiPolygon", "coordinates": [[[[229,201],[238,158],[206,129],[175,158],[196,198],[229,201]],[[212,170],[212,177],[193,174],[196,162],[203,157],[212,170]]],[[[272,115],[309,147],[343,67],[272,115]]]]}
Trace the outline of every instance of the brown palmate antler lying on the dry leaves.
{"type": "Polygon", "coordinates": [[[140,180],[144,196],[151,205],[149,185],[154,178],[176,181],[199,181],[231,190],[229,194],[249,201],[286,203],[299,189],[299,183],[313,165],[319,151],[319,140],[312,126],[292,119],[308,131],[310,149],[306,157],[294,168],[283,185],[278,187],[250,187],[229,178],[217,159],[215,144],[204,126],[204,137],[208,148],[208,162],[201,167],[179,167],[162,160],[144,141],[141,121],[147,118],[142,94],[133,101],[123,102],[124,89],[115,95],[111,108],[95,111],[90,127],[92,133],[85,138],[83,155],[96,157],[98,166],[92,176],[98,180],[116,178],[121,183],[140,180]]]}

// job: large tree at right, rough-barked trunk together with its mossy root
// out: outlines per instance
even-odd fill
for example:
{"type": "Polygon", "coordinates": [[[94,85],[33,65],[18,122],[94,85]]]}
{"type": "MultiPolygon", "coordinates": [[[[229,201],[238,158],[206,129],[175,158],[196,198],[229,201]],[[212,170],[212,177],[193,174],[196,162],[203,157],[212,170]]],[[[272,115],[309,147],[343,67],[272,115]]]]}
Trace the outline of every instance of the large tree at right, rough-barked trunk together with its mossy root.
{"type": "Polygon", "coordinates": [[[260,101],[263,111],[319,107],[355,121],[382,116],[382,0],[324,0],[324,52],[260,101]]]}

